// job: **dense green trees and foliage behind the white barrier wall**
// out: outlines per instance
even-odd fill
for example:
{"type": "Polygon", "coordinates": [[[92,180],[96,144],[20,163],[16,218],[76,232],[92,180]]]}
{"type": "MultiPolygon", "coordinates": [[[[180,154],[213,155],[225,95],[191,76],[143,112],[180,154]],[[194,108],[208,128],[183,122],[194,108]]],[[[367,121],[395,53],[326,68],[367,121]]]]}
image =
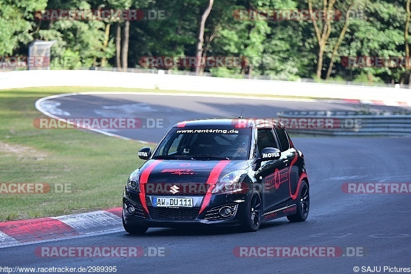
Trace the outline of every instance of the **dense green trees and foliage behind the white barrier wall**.
{"type": "MultiPolygon", "coordinates": [[[[0,0],[0,56],[27,54],[35,39],[56,40],[52,58],[71,60],[65,68],[141,67],[139,60],[145,56],[196,56],[200,20],[208,5],[209,0],[0,0]],[[124,21],[34,18],[36,10],[99,8],[165,10],[165,19],[130,21],[127,27],[124,21]],[[129,33],[128,48],[125,33],[129,33]],[[117,45],[116,37],[122,38],[117,45]],[[125,60],[120,59],[121,52],[125,60]]],[[[405,67],[345,67],[342,63],[344,56],[405,57],[407,5],[407,0],[216,0],[204,28],[203,54],[241,57],[246,66],[206,71],[226,77],[249,74],[297,80],[320,76],[408,83],[405,67]],[[238,10],[305,10],[309,5],[314,10],[339,10],[342,17],[313,22],[235,16],[238,10]]]]}

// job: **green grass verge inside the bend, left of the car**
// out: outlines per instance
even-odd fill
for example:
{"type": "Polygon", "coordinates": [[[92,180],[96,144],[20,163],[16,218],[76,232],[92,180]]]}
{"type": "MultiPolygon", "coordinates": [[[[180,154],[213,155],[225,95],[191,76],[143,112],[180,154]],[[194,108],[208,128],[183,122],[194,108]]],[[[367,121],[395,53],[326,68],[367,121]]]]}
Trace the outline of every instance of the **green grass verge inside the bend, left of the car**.
{"type": "Polygon", "coordinates": [[[0,183],[70,184],[70,193],[1,194],[0,222],[59,216],[121,206],[128,175],[141,165],[146,144],[85,130],[35,129],[46,117],[41,97],[120,88],[46,87],[0,90],[0,183]]]}

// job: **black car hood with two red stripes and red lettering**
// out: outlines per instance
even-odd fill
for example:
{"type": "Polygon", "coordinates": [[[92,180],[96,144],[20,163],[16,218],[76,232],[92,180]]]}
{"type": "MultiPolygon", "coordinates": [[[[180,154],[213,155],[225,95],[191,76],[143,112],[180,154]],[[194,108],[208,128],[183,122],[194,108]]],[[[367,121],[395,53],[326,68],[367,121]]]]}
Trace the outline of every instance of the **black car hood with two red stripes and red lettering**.
{"type": "Polygon", "coordinates": [[[139,170],[140,184],[210,184],[234,170],[247,169],[246,160],[148,160],[139,170]]]}

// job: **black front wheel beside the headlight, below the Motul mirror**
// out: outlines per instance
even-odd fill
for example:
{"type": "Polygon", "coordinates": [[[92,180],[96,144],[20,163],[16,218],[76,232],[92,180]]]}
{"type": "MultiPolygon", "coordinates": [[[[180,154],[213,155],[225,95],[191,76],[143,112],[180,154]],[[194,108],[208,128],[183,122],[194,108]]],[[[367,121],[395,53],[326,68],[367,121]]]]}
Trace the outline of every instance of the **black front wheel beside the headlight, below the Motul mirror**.
{"type": "Polygon", "coordinates": [[[255,232],[258,230],[261,224],[261,196],[254,189],[250,194],[250,198],[247,201],[247,209],[244,223],[241,230],[244,232],[255,232]]]}

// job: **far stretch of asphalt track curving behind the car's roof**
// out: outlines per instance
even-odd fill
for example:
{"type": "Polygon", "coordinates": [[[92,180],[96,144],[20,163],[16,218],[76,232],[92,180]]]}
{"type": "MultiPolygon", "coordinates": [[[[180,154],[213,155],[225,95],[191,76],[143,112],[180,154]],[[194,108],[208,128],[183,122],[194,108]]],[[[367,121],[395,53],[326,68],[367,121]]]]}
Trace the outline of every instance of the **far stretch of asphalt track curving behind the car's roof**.
{"type": "MultiPolygon", "coordinates": [[[[103,130],[130,139],[157,143],[172,125],[188,119],[213,117],[236,118],[242,113],[248,118],[276,118],[279,111],[395,111],[394,106],[340,103],[336,101],[284,101],[216,96],[170,96],[136,94],[92,94],[52,98],[40,106],[59,118],[138,118],[140,129],[103,130]],[[150,121],[147,121],[150,120],[150,121]],[[152,128],[153,120],[160,122],[152,128]],[[162,126],[161,126],[162,125],[162,126]],[[150,130],[148,130],[150,127],[150,130]]],[[[411,110],[411,107],[403,107],[411,110]]]]}

